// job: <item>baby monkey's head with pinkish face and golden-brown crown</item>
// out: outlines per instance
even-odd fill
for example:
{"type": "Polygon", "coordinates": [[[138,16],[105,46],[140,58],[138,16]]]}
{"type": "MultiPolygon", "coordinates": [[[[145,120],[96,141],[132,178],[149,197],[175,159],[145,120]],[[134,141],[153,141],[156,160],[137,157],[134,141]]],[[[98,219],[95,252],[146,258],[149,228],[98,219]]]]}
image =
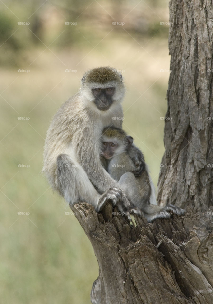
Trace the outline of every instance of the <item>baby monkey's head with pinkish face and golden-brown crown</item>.
{"type": "Polygon", "coordinates": [[[106,159],[113,158],[127,152],[132,143],[133,137],[128,136],[122,129],[107,127],[102,132],[100,154],[106,159]]]}

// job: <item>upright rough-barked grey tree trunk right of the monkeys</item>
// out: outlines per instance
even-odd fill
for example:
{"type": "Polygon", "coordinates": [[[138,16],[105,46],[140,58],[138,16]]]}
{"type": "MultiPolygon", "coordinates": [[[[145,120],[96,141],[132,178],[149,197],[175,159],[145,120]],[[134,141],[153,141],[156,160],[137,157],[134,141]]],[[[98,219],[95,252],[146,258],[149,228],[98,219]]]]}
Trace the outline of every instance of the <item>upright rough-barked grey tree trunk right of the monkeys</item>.
{"type": "Polygon", "coordinates": [[[212,1],[172,0],[170,22],[169,119],[158,201],[182,208],[212,206],[212,1]]]}

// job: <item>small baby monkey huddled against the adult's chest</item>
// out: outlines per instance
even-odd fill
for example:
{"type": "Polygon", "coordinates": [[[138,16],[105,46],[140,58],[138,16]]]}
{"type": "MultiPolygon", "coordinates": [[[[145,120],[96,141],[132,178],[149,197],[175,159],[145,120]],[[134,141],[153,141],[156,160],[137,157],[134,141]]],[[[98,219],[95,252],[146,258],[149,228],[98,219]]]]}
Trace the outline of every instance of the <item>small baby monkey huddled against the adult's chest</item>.
{"type": "Polygon", "coordinates": [[[179,207],[168,205],[161,208],[157,205],[147,164],[140,177],[135,177],[132,173],[135,165],[128,152],[132,143],[133,137],[122,129],[107,127],[102,132],[100,152],[103,166],[118,181],[133,205],[132,208],[140,209],[148,222],[170,218],[172,214],[183,215],[184,210],[179,207]]]}

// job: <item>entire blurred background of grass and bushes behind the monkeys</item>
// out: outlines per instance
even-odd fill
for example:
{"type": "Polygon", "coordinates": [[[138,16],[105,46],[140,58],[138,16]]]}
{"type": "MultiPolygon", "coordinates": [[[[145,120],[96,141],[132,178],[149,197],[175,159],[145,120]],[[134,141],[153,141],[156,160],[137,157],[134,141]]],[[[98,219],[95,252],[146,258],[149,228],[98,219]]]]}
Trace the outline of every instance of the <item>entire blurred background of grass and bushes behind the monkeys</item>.
{"type": "Polygon", "coordinates": [[[84,71],[105,65],[122,70],[123,128],[144,152],[157,186],[170,64],[168,14],[168,1],[160,0],[2,0],[2,303],[90,303],[96,257],[75,216],[65,214],[66,202],[40,173],[46,130],[78,90],[84,71]]]}

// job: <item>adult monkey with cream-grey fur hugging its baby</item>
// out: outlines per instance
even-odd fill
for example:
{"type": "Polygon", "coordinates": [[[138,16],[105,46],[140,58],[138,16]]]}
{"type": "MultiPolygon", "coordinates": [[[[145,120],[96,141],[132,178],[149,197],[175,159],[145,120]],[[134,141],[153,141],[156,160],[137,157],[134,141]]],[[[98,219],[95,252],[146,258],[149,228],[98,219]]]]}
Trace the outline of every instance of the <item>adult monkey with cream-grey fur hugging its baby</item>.
{"type": "MultiPolygon", "coordinates": [[[[86,201],[99,211],[111,200],[119,210],[130,209],[127,196],[101,165],[99,142],[105,127],[122,127],[124,92],[122,75],[116,70],[95,68],[85,73],[79,92],[53,117],[45,141],[43,172],[70,205],[86,201]]],[[[134,174],[140,176],[143,154],[134,146],[129,154],[137,167],[134,174]]]]}

